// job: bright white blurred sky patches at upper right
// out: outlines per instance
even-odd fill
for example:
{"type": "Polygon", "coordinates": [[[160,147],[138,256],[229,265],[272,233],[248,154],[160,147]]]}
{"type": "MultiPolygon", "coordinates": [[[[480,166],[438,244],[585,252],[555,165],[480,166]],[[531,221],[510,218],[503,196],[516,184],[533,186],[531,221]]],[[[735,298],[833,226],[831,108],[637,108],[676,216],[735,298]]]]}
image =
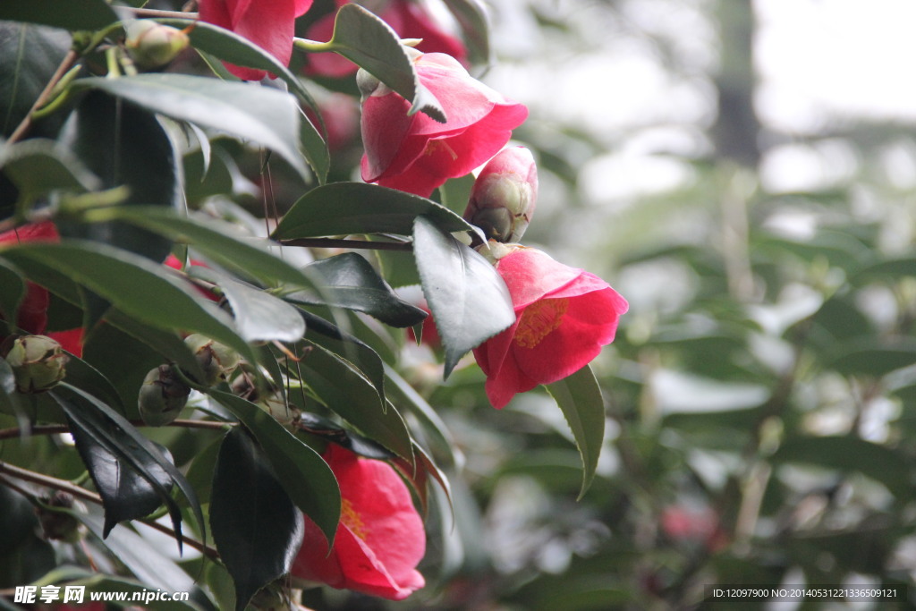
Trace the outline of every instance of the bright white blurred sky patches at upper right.
{"type": "MultiPolygon", "coordinates": [[[[578,48],[536,27],[521,0],[499,0],[496,44],[500,55],[518,61],[497,64],[488,81],[529,104],[532,115],[584,125],[607,143],[608,154],[583,168],[585,199],[610,205],[689,180],[689,169],[657,153],[709,152],[703,129],[713,120],[708,75],[718,52],[706,19],[710,0],[618,5],[630,25],[668,40],[680,76],[632,28],[609,19],[601,3],[538,4],[573,23],[578,48]]],[[[788,136],[816,136],[862,118],[916,121],[916,0],[754,0],[754,6],[757,110],[765,125],[788,136]]],[[[772,191],[818,188],[847,176],[855,163],[842,143],[789,144],[769,152],[762,179],[772,191]]]]}

